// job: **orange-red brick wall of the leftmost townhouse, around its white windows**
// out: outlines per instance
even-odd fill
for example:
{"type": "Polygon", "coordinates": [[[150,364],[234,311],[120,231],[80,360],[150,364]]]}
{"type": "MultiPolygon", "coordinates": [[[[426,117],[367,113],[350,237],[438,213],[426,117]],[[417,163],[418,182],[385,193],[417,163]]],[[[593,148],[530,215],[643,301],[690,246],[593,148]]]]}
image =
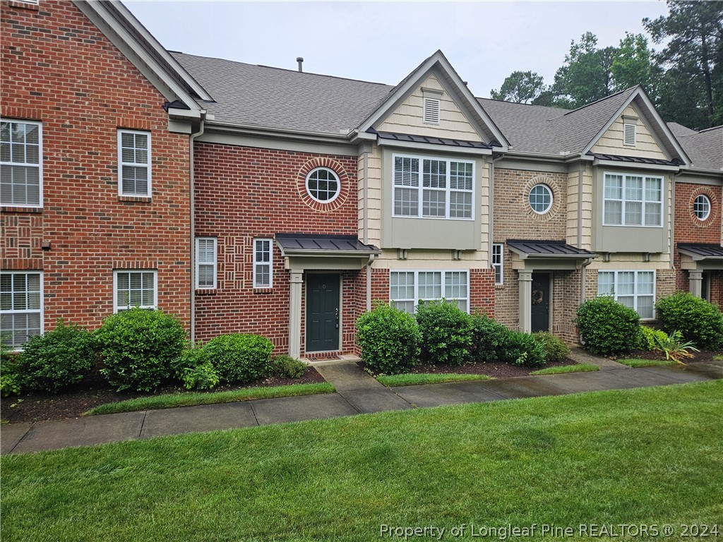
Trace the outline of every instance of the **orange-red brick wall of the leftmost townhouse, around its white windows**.
{"type": "Polygon", "coordinates": [[[188,137],[168,133],[165,98],[69,1],[0,13],[1,114],[42,121],[44,192],[40,212],[3,209],[3,269],[44,270],[46,329],[98,326],[121,267],[157,269],[158,305],[188,325],[188,137]],[[119,200],[118,128],[152,133],[150,201],[119,200]]]}

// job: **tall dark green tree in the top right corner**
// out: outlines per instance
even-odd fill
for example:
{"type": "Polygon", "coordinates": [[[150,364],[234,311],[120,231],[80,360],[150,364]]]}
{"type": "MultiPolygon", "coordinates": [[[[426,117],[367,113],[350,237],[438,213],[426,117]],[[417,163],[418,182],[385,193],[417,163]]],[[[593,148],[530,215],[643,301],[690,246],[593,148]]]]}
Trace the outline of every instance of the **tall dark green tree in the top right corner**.
{"type": "MultiPolygon", "coordinates": [[[[643,19],[654,43],[667,45],[657,55],[666,76],[675,77],[669,88],[686,87],[691,99],[698,99],[706,112],[706,126],[714,126],[723,117],[723,3],[716,1],[667,0],[668,15],[655,20],[643,19]]],[[[686,106],[690,108],[690,106],[686,106]]],[[[687,123],[689,124],[689,123],[687,123]]]]}

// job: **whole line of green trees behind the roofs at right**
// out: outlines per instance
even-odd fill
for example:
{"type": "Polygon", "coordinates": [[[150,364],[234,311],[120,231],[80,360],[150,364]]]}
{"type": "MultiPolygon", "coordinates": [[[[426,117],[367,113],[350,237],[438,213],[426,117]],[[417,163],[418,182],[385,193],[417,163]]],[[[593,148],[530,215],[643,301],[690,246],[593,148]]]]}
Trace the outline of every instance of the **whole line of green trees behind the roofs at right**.
{"type": "Polygon", "coordinates": [[[495,100],[574,109],[641,85],[665,121],[692,129],[723,124],[723,2],[667,0],[668,14],[643,19],[643,34],[625,33],[617,47],[599,48],[584,33],[570,44],[552,85],[535,72],[512,72],[495,100]]]}

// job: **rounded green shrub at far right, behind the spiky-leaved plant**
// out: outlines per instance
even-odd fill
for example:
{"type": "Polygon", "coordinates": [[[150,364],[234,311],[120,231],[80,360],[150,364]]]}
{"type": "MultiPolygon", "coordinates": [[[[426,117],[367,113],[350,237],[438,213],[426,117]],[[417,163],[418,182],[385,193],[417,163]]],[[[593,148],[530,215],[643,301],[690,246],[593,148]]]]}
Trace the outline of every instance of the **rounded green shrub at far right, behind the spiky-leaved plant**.
{"type": "Polygon", "coordinates": [[[660,326],[668,334],[677,330],[699,348],[723,347],[723,314],[717,305],[688,292],[676,292],[655,304],[660,326]]]}

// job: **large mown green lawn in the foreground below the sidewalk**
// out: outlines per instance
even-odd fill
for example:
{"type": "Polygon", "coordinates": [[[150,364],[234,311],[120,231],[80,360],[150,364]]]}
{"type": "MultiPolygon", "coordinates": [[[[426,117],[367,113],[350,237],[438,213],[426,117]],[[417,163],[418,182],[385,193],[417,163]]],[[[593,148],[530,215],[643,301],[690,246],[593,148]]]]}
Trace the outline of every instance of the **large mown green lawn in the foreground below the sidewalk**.
{"type": "Polygon", "coordinates": [[[682,523],[723,524],[722,412],[714,381],[9,455],[1,534],[403,540],[380,537],[390,525],[461,540],[470,524],[533,523],[668,523],[680,534],[682,523]]]}

